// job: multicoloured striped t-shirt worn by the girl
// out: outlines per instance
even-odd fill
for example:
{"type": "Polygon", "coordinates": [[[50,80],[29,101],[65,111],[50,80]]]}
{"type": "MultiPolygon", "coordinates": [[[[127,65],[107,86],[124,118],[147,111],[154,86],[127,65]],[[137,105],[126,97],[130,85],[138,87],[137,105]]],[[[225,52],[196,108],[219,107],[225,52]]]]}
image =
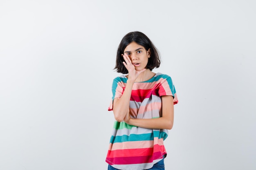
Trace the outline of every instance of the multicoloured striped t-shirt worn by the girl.
{"type": "MultiPolygon", "coordinates": [[[[128,78],[121,75],[113,80],[112,102],[121,97],[128,78]]],[[[171,95],[174,104],[178,103],[175,87],[170,76],[157,73],[145,82],[135,82],[130,97],[131,118],[153,119],[162,116],[161,96],[171,95]]],[[[131,126],[124,121],[115,121],[106,162],[120,170],[144,170],[163,159],[166,154],[164,139],[167,129],[147,129],[131,126]]]]}

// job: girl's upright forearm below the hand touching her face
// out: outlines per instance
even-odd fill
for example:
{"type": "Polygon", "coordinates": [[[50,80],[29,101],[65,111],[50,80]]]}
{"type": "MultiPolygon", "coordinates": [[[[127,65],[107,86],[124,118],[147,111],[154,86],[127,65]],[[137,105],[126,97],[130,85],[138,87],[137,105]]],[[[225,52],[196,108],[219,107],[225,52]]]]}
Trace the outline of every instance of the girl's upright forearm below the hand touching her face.
{"type": "Polygon", "coordinates": [[[128,80],[123,95],[114,100],[113,113],[117,121],[123,121],[129,110],[133,83],[133,81],[128,80]]]}

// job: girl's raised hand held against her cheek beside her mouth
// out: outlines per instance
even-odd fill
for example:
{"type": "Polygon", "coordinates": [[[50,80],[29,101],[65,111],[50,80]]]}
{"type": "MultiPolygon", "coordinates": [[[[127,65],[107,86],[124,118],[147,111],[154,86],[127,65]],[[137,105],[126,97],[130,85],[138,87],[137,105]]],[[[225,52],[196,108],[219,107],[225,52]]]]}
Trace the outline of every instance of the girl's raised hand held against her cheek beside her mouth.
{"type": "Polygon", "coordinates": [[[124,55],[122,54],[122,56],[124,57],[124,61],[125,61],[125,62],[123,62],[123,64],[126,67],[126,69],[128,70],[128,75],[129,75],[128,79],[135,82],[135,80],[137,79],[139,74],[144,72],[146,70],[146,68],[143,68],[141,71],[137,71],[135,69],[135,66],[132,64],[132,61],[128,57],[128,55],[127,54],[124,54],[124,55]]]}

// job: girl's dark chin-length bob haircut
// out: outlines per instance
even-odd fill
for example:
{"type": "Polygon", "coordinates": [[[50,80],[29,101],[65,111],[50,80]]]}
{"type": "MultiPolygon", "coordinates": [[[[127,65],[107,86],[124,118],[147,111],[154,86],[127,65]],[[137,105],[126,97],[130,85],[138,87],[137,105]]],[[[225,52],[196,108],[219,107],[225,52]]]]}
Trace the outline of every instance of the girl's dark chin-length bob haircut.
{"type": "Polygon", "coordinates": [[[128,70],[124,66],[124,58],[121,56],[124,54],[124,49],[128,46],[131,42],[136,42],[137,44],[143,46],[146,51],[150,49],[150,58],[148,58],[148,64],[146,68],[153,70],[153,68],[158,68],[160,66],[160,55],[157,48],[154,44],[150,41],[150,39],[144,34],[139,31],[134,31],[127,33],[124,38],[121,40],[118,49],[117,49],[117,59],[116,59],[116,69],[117,73],[127,74],[128,70]]]}

